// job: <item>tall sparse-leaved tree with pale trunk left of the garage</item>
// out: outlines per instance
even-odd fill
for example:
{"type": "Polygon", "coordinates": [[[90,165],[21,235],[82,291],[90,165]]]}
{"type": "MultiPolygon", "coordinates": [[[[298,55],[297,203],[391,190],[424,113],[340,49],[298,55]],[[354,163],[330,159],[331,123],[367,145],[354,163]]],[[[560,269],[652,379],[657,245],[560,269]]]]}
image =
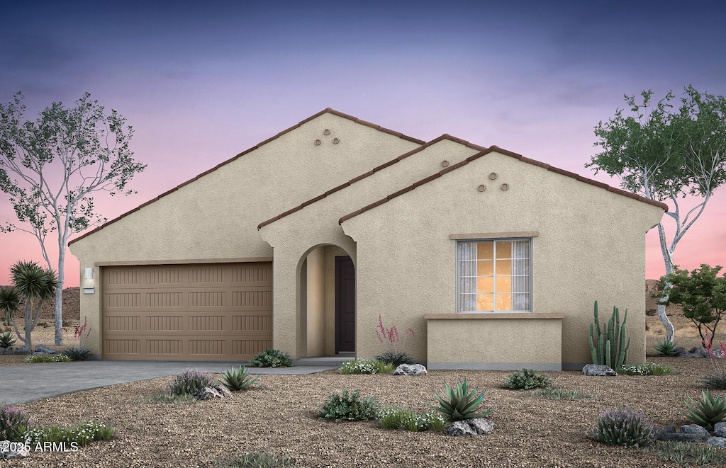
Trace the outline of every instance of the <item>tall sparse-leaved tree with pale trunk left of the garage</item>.
{"type": "Polygon", "coordinates": [[[62,290],[68,239],[89,226],[105,222],[95,213],[92,194],[133,193],[126,190],[146,164],[129,149],[134,130],[126,119],[91,101],[85,93],[66,109],[54,102],[33,121],[23,117],[23,94],[0,104],[0,191],[7,193],[19,225],[7,222],[0,232],[20,230],[34,235],[43,258],[46,235],[57,233],[58,282],[55,291],[55,343],[62,345],[62,290]]]}

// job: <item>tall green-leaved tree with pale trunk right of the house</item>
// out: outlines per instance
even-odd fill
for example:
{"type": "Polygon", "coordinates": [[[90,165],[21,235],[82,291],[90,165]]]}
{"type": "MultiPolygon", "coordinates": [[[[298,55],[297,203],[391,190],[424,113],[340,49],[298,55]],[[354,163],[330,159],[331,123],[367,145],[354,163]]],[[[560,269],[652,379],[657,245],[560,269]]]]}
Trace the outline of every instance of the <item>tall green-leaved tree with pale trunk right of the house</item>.
{"type": "MultiPolygon", "coordinates": [[[[726,99],[699,93],[693,86],[685,88],[677,107],[671,104],[673,93],[654,105],[652,96],[653,91],[643,91],[642,102],[625,96],[630,115],[618,109],[608,122],[595,127],[595,146],[603,152],[592,156],[585,167],[620,177],[628,191],[670,202],[673,209],[666,214],[675,222],[670,241],[663,222],[658,223],[667,276],[674,271],[678,242],[701,216],[714,191],[726,182],[726,99]],[[688,211],[680,206],[686,195],[700,197],[688,211]]],[[[666,283],[658,317],[666,327],[666,340],[672,341],[673,325],[665,309],[669,291],[666,283]]]]}

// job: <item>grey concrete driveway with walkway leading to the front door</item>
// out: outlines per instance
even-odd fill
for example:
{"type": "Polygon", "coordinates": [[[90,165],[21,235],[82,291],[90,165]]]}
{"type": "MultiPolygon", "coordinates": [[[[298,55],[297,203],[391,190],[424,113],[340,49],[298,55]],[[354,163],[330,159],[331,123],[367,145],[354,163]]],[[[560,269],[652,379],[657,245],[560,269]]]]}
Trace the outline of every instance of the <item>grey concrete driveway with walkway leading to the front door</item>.
{"type": "MultiPolygon", "coordinates": [[[[293,367],[248,367],[248,370],[250,374],[304,375],[335,369],[339,365],[301,364],[293,367]]],[[[28,403],[91,388],[167,377],[187,367],[200,372],[221,373],[239,366],[240,362],[84,361],[0,367],[0,403],[28,403]]]]}

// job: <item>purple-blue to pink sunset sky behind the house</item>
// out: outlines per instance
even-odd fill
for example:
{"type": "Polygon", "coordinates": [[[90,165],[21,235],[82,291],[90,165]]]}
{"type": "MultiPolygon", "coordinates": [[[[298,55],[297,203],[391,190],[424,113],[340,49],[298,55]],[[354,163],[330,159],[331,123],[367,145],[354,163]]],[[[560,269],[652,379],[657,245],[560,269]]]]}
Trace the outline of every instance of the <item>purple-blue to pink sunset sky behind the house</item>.
{"type": "MultiPolygon", "coordinates": [[[[5,1],[0,102],[23,91],[34,120],[88,91],[127,118],[148,168],[131,183],[136,195],[97,196],[113,219],[326,107],[619,186],[584,164],[598,151],[593,128],[624,106],[624,94],[680,96],[693,84],[726,95],[726,11],[717,2],[476,4],[5,1]]],[[[0,194],[4,220],[15,218],[0,194]]],[[[680,242],[676,264],[726,266],[725,220],[726,186],[680,242]]],[[[666,229],[670,237],[672,223],[666,229]]],[[[35,238],[0,233],[0,284],[19,259],[41,260],[35,238]]],[[[78,285],[71,254],[66,268],[66,286],[78,285]]],[[[651,230],[646,275],[663,274],[651,230]]]]}

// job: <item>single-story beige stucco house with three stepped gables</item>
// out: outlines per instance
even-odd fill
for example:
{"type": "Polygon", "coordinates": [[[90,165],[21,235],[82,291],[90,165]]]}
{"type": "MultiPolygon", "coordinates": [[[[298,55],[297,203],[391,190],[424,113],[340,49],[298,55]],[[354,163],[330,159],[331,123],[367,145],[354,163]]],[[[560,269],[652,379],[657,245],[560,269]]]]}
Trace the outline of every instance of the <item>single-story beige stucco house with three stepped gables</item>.
{"type": "Polygon", "coordinates": [[[666,208],[325,109],[70,248],[103,359],[372,358],[380,314],[431,369],[574,369],[595,300],[629,309],[644,361],[645,233],[666,208]]]}

